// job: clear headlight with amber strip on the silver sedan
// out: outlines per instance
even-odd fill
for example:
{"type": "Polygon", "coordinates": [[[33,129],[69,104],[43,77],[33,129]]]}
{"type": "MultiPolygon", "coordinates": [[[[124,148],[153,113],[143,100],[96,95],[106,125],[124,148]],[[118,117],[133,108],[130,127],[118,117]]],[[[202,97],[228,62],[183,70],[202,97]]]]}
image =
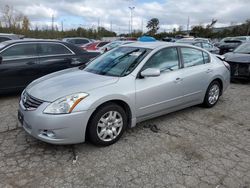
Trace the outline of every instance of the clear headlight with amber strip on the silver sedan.
{"type": "Polygon", "coordinates": [[[45,114],[68,114],[76,105],[88,96],[87,93],[76,93],[57,99],[43,111],[45,114]]]}

